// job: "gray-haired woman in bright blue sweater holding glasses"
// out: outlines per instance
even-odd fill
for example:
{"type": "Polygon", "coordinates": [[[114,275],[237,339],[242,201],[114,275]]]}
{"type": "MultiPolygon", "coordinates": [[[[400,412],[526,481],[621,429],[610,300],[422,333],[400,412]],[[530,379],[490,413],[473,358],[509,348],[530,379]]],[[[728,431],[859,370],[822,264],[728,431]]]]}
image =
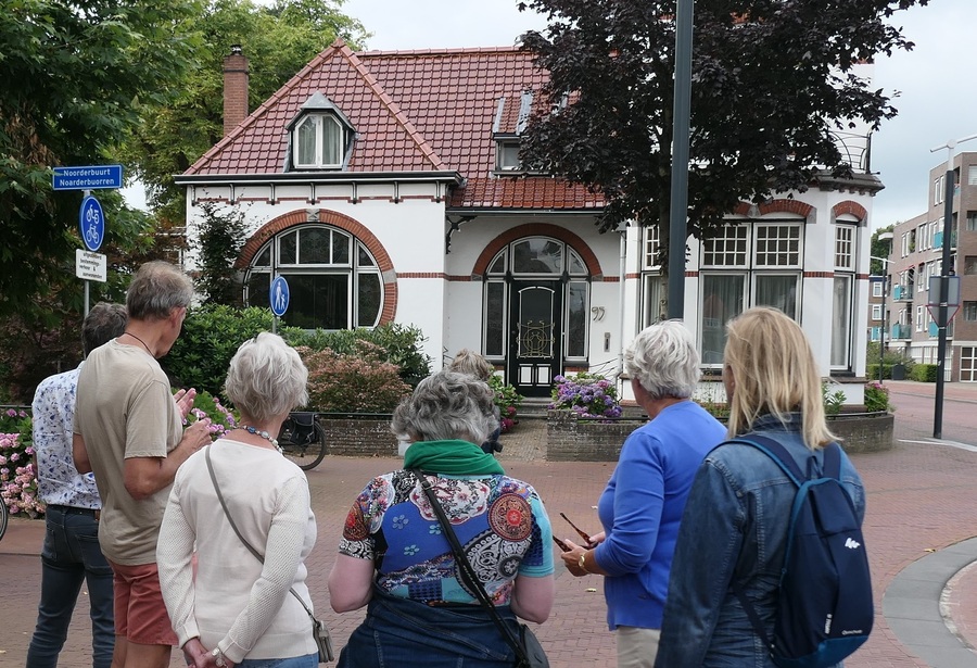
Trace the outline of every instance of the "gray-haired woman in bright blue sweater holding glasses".
{"type": "Polygon", "coordinates": [[[604,531],[562,553],[576,577],[604,576],[607,623],[617,631],[619,668],[650,668],[678,522],[699,463],[725,429],[689,400],[699,380],[695,341],[680,320],[642,330],[624,354],[635,401],[650,421],[621,449],[600,495],[604,531]]]}

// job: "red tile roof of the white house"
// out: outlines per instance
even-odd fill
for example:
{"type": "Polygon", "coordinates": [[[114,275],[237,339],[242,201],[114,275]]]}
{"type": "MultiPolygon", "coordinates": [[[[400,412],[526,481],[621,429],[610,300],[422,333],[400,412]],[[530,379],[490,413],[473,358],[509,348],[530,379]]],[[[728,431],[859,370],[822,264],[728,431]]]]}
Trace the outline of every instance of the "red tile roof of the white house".
{"type": "Polygon", "coordinates": [[[499,100],[498,130],[515,133],[522,93],[546,76],[513,47],[354,53],[337,40],[186,175],[282,173],[286,125],[318,91],[356,129],[350,172],[458,172],[467,181],[452,205],[460,207],[599,206],[599,196],[560,179],[493,175],[499,100]]]}

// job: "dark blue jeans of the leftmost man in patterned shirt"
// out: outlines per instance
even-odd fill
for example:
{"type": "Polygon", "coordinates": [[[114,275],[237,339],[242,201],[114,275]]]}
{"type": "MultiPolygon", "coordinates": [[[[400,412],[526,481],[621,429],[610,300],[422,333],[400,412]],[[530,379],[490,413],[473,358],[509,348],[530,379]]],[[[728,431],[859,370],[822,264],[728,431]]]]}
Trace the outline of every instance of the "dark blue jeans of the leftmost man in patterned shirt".
{"type": "Polygon", "coordinates": [[[41,551],[41,598],[27,668],[55,668],[81,582],[91,604],[94,668],[109,668],[115,647],[112,568],[99,547],[99,522],[91,511],[48,506],[41,551]]]}

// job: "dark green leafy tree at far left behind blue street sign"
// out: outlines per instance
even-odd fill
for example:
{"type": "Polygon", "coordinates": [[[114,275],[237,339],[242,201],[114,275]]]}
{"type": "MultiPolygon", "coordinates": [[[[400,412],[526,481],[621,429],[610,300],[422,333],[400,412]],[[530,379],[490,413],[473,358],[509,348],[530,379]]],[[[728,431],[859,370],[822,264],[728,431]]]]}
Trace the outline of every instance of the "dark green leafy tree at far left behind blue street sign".
{"type": "MultiPolygon", "coordinates": [[[[186,22],[199,7],[0,4],[0,318],[26,314],[28,328],[31,317],[48,318],[38,305],[60,299],[74,275],[81,202],[78,191],[52,190],[51,167],[116,162],[112,147],[144,109],[166,101],[187,65],[195,42],[186,22]]],[[[109,243],[138,238],[144,219],[103,193],[109,243]]]]}

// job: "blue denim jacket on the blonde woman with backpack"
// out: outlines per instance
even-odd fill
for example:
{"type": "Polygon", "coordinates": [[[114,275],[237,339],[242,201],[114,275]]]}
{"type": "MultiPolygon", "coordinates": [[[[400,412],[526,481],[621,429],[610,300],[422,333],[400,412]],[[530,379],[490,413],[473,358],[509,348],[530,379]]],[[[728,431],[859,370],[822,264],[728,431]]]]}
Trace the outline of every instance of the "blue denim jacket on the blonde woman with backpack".
{"type": "MultiPolygon", "coordinates": [[[[787,424],[767,415],[753,432],[779,442],[801,470],[813,459],[820,471],[824,453],[809,450],[800,429],[800,414],[787,424]]],[[[865,490],[845,453],[841,481],[861,522],[865,490]]],[[[751,445],[726,442],[709,453],[678,529],[656,668],[774,666],[733,592],[743,590],[772,635],[796,493],[773,459],[751,445]]]]}

